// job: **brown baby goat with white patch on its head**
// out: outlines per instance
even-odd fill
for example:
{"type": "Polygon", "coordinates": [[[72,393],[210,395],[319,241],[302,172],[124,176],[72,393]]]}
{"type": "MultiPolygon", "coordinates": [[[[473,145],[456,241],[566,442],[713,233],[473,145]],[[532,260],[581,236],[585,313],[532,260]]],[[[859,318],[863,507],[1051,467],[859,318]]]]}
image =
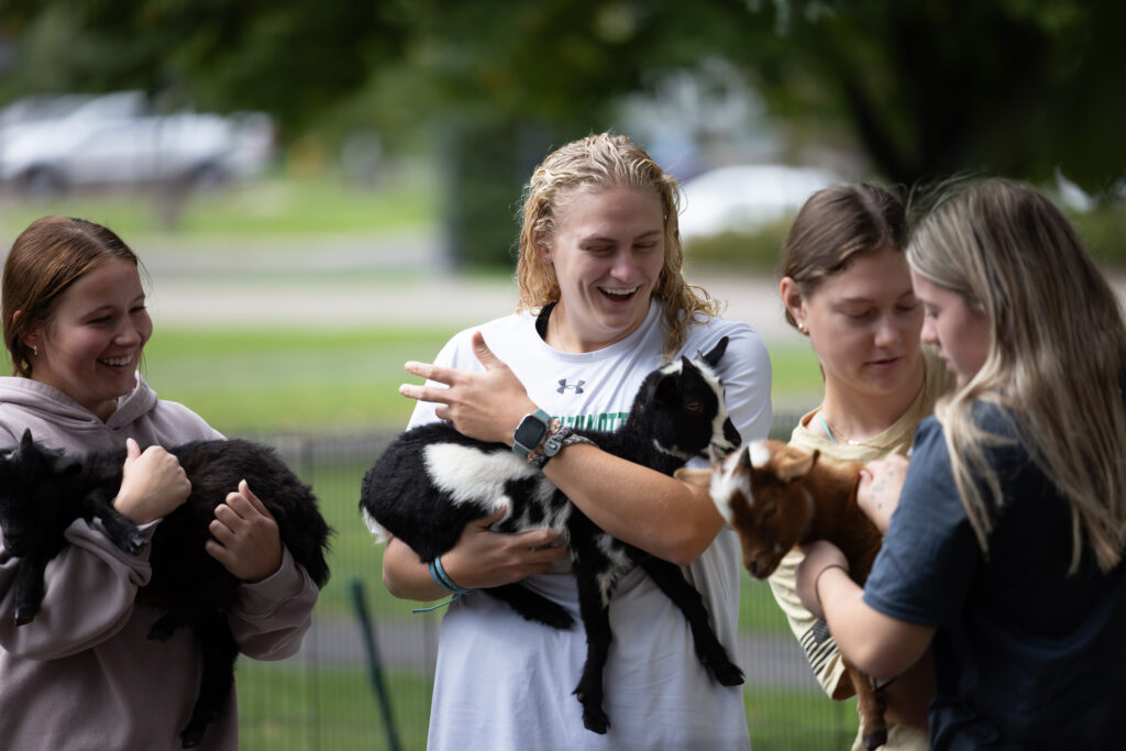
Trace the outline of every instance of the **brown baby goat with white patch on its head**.
{"type": "MultiPolygon", "coordinates": [[[[849,575],[864,584],[883,536],[856,503],[860,465],[822,458],[777,440],[753,441],[711,470],[678,470],[678,480],[708,488],[739,535],[743,565],[766,579],[795,545],[826,539],[844,554],[849,575]]],[[[864,723],[864,745],[887,741],[883,691],[841,655],[864,723]]]]}

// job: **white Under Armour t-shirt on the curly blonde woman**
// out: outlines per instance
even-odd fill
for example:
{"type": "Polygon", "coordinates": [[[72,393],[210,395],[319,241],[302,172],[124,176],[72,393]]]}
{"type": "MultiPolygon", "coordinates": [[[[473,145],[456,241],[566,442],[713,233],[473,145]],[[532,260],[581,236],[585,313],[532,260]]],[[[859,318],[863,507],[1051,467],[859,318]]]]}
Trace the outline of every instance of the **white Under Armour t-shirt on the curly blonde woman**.
{"type": "MultiPolygon", "coordinates": [[[[656,304],[633,334],[596,352],[548,347],[535,316],[517,313],[461,332],[435,361],[466,370],[481,364],[474,331],[525,385],[530,399],[569,424],[614,430],[628,413],[641,382],[661,365],[664,330],[656,304]]],[[[770,427],[770,360],[761,339],[743,323],[715,319],[689,329],[681,354],[695,357],[729,337],[717,370],[726,405],[744,441],[770,427]]],[[[411,424],[435,420],[420,402],[411,424]]],[[[739,613],[739,542],[724,528],[683,572],[704,596],[720,641],[734,659],[739,613]]],[[[610,602],[614,641],[604,673],[606,735],[583,727],[578,699],[587,642],[574,576],[548,573],[524,583],[566,607],[570,631],[529,623],[483,593],[454,602],[441,626],[428,748],[622,751],[696,748],[749,749],[741,687],[723,687],[700,665],[681,613],[635,569],[610,602]]],[[[741,665],[745,669],[745,665],[741,665]]]]}

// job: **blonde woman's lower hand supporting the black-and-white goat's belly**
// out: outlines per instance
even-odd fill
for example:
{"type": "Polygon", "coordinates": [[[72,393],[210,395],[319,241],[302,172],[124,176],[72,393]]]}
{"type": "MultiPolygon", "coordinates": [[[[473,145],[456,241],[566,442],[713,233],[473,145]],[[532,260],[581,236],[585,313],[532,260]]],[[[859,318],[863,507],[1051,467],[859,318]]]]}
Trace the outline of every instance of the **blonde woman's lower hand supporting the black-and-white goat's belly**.
{"type": "Polygon", "coordinates": [[[500,587],[544,573],[569,556],[565,547],[552,546],[557,535],[534,529],[516,535],[489,529],[504,518],[507,509],[465,525],[457,544],[443,555],[443,569],[458,587],[500,587]],[[551,547],[548,547],[551,546],[551,547]]]}

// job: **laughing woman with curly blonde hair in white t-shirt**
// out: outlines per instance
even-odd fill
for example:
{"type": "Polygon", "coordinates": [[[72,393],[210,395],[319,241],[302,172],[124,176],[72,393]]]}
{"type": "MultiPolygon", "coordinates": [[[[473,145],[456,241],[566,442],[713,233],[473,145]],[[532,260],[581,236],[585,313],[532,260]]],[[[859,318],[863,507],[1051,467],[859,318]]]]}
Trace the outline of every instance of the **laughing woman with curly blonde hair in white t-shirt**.
{"type": "MultiPolygon", "coordinates": [[[[411,424],[448,419],[518,454],[528,435],[542,444],[575,426],[614,430],[650,370],[727,337],[718,366],[727,410],[744,440],[766,437],[766,348],[748,325],[716,318],[715,303],[685,281],[677,195],[676,181],[625,136],[592,135],[548,155],[525,190],[519,310],[457,334],[434,365],[408,364],[430,379],[401,390],[420,400],[411,424]]],[[[685,566],[731,651],[739,544],[703,489],[590,444],[565,445],[543,472],[599,527],[685,566]]],[[[556,565],[565,554],[549,546],[551,534],[493,533],[497,518],[470,525],[441,556],[443,582],[391,540],[391,592],[435,600],[455,582],[465,590],[522,580],[577,615],[575,581],[556,565]]],[[[443,622],[429,748],[750,746],[742,691],[700,665],[685,618],[641,570],[618,584],[610,623],[610,727],[600,735],[583,727],[571,696],[587,649],[580,628],[526,622],[488,597],[454,601],[443,622]]]]}

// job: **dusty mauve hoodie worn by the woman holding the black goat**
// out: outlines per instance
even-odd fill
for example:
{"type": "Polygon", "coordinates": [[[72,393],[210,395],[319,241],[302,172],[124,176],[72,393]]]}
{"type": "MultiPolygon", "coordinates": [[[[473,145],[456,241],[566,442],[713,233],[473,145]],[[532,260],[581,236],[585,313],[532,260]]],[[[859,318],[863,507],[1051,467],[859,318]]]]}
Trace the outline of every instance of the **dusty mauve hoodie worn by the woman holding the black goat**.
{"type": "MultiPolygon", "coordinates": [[[[142,449],[222,438],[181,404],[158,400],[140,374],[106,422],[51,386],[0,378],[0,447],[15,445],[25,428],[37,441],[77,454],[122,448],[129,437],[142,449]]],[[[151,538],[158,524],[142,529],[151,538]]],[[[150,548],[123,553],[100,521],[80,519],[66,538],[70,545],[47,565],[43,609],[30,624],[15,625],[15,561],[0,566],[0,746],[180,749],[179,732],[198,690],[199,654],[186,628],[164,643],[146,638],[161,613],[135,605],[134,597],[151,575],[150,548]]],[[[316,585],[284,551],[280,570],[243,584],[242,599],[229,615],[242,653],[256,660],[294,654],[312,623],[316,597],[316,585]]],[[[232,692],[224,716],[208,726],[199,748],[238,746],[232,692]]]]}

